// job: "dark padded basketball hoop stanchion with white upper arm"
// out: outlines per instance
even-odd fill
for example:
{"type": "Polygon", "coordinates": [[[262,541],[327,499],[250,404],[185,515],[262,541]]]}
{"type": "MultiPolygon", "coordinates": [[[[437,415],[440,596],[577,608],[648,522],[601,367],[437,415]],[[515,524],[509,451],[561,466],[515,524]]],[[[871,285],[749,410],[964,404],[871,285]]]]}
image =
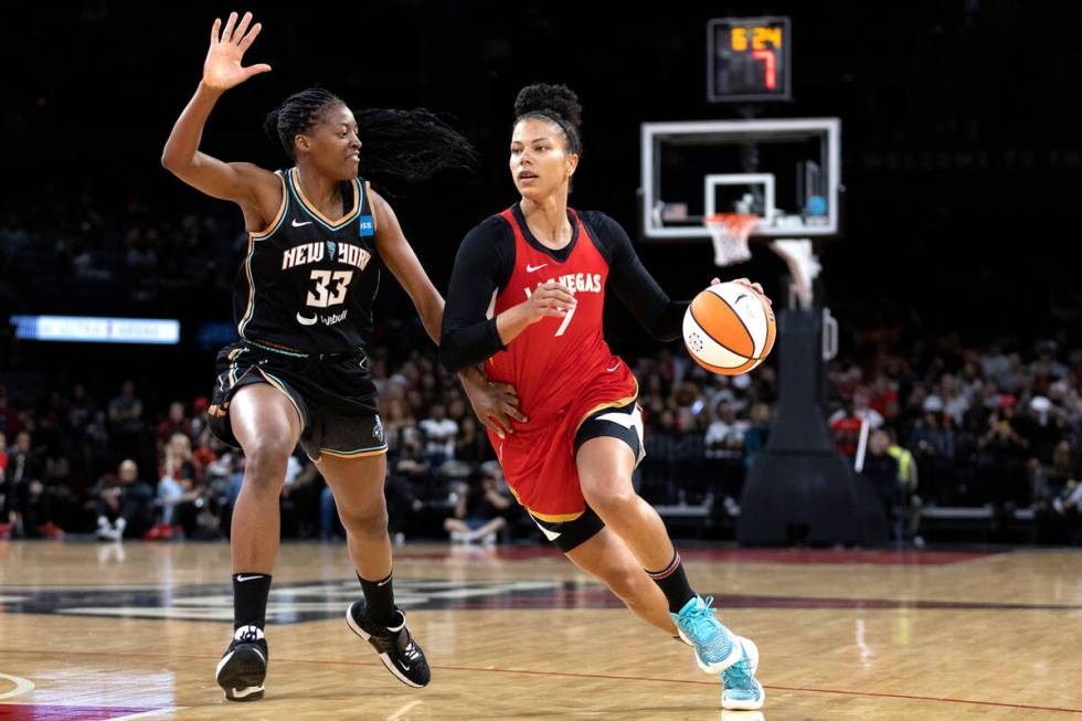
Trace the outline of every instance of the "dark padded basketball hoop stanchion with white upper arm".
{"type": "Polygon", "coordinates": [[[813,309],[819,264],[808,241],[775,241],[793,274],[793,303],[778,314],[777,416],[765,453],[744,483],[736,539],[744,545],[882,545],[888,524],[870,484],[835,449],[826,416],[823,335],[813,309]]]}

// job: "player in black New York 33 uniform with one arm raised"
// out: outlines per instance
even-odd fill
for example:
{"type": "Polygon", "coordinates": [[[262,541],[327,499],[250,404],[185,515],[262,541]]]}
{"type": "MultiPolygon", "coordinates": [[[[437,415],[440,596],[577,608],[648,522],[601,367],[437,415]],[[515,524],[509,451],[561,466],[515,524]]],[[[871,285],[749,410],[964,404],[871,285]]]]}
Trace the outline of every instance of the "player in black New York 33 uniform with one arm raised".
{"type": "MultiPolygon", "coordinates": [[[[263,697],[264,636],[270,572],[278,550],[278,495],[298,443],[335,494],[350,558],[364,594],[347,611],[349,627],[375,648],[401,681],[429,680],[424,654],[394,605],[391,543],[383,498],[386,442],[376,412],[365,344],[379,261],[399,279],[439,339],[443,298],[425,275],[394,211],[358,177],[358,120],[321,89],[290,96],[267,128],[295,167],[269,172],[223,162],[199,150],[206,118],[226,89],[269,65],[241,65],[259,34],[252,14],[214,21],[203,77],[166,142],[162,165],[189,185],[241,206],[250,231],[237,274],[234,311],[241,341],[219,356],[212,430],[244,450],[247,465],[232,521],[234,635],[218,665],[218,682],[234,701],[263,697]]],[[[473,152],[457,132],[425,112],[383,113],[406,134],[402,142],[432,144],[433,153],[404,153],[395,170],[425,178],[460,166],[473,152]],[[411,165],[412,163],[412,165],[411,165]]],[[[415,148],[414,148],[415,149],[415,148]]],[[[372,158],[379,157],[378,153],[372,158]]],[[[365,153],[367,168],[369,153],[365,153]]],[[[513,397],[463,374],[475,412],[501,417],[513,397]]]]}

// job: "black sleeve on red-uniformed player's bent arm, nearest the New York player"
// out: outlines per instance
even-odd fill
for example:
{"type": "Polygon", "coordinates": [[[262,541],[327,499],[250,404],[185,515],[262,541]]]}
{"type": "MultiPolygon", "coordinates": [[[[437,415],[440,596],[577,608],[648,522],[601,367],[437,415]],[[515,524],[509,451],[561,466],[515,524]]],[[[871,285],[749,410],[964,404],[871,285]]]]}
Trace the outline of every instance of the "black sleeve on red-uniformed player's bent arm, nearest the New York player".
{"type": "Polygon", "coordinates": [[[506,221],[489,218],[463,238],[450,272],[439,339],[439,362],[452,373],[507,350],[488,318],[495,294],[507,286],[515,264],[515,241],[506,221]]]}

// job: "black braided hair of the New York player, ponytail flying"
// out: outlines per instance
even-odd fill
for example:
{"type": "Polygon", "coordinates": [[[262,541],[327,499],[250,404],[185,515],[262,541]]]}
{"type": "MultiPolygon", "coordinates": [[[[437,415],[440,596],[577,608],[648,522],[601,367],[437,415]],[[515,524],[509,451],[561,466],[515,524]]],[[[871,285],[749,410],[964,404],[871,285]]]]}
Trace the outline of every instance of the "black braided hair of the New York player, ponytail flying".
{"type": "MultiPolygon", "coordinates": [[[[319,123],[322,113],[333,105],[346,102],[320,87],[300,91],[267,114],[263,128],[296,160],[294,138],[319,123]]],[[[354,112],[353,117],[357,135],[363,141],[364,177],[376,185],[415,184],[443,170],[477,167],[477,150],[469,140],[429,110],[370,108],[354,112]]]]}

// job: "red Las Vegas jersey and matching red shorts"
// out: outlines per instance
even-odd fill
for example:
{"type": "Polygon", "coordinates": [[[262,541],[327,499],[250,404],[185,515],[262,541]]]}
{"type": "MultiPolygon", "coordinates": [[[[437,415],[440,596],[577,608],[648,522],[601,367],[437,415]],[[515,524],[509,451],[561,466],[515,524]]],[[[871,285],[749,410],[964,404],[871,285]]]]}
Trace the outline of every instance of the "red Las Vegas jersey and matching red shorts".
{"type": "Polygon", "coordinates": [[[488,431],[507,484],[533,516],[554,522],[585,510],[574,458],[579,426],[591,413],[638,395],[630,369],[613,356],[602,332],[608,262],[579,213],[571,213],[577,233],[563,262],[531,246],[510,210],[501,213],[515,233],[515,267],[494,314],[519,305],[548,280],[573,288],[577,305],[565,317],[545,316],[528,326],[485,365],[490,380],[515,385],[519,410],[529,418],[515,423],[506,438],[488,431]]]}

